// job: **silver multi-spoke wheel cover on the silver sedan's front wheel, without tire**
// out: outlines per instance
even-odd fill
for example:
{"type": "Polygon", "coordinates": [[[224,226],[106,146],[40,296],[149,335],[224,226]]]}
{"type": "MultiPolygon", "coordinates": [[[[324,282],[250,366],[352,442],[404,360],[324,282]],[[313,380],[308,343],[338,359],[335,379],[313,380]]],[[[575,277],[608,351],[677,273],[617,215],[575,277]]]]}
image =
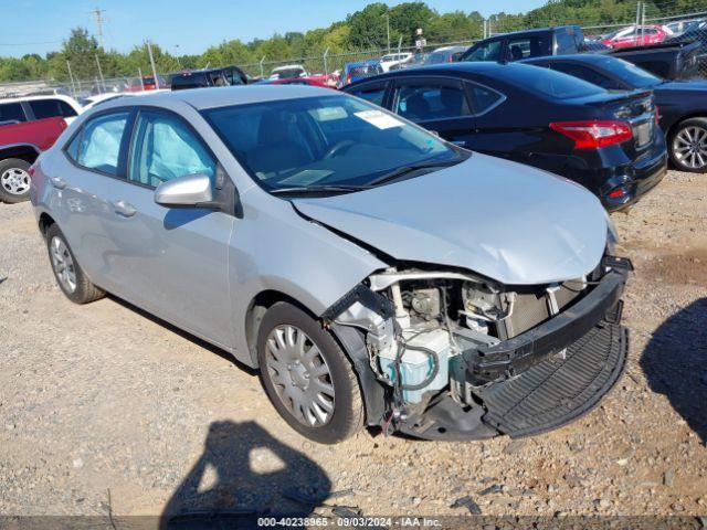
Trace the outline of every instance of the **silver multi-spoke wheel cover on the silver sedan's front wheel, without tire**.
{"type": "Polygon", "coordinates": [[[279,325],[267,336],[265,348],[267,375],[287,411],[308,427],[329,423],[335,392],[319,347],[299,328],[279,325]]]}

